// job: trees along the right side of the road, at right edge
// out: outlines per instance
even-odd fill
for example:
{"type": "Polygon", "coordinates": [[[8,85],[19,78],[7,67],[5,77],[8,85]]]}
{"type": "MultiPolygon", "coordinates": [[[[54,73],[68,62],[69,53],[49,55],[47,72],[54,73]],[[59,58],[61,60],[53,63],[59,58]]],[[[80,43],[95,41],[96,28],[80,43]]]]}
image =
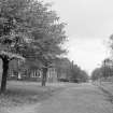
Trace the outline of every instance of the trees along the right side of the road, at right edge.
{"type": "Polygon", "coordinates": [[[109,38],[109,50],[110,50],[110,58],[105,58],[102,61],[100,68],[96,68],[91,73],[91,79],[94,81],[98,79],[107,79],[109,76],[113,76],[113,34],[109,38]]]}

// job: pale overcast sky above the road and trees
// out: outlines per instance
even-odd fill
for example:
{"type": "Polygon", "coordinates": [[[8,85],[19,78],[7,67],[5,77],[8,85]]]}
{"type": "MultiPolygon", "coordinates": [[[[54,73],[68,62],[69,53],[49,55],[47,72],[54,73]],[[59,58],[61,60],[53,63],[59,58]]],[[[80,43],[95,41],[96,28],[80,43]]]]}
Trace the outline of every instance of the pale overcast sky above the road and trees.
{"type": "Polygon", "coordinates": [[[109,57],[107,41],[113,33],[113,0],[44,0],[53,3],[67,23],[68,57],[91,72],[109,57]]]}

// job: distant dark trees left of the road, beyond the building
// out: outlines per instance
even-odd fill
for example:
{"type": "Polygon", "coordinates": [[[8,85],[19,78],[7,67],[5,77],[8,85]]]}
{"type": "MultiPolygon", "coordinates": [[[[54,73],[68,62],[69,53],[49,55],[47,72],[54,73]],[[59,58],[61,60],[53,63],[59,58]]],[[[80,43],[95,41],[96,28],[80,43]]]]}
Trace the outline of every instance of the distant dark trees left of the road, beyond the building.
{"type": "Polygon", "coordinates": [[[59,81],[66,82],[87,82],[88,74],[82,70],[77,65],[74,65],[73,61],[70,61],[68,58],[62,58],[60,61],[57,61],[58,72],[62,73],[59,74],[59,81]],[[61,76],[60,76],[61,75],[61,76]]]}

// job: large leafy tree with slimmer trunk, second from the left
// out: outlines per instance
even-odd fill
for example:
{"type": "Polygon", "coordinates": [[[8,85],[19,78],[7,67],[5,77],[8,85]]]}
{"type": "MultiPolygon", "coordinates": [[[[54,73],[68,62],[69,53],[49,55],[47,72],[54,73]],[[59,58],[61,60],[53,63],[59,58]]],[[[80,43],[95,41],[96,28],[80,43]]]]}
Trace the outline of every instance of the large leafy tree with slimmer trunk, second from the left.
{"type": "Polygon", "coordinates": [[[58,20],[59,17],[57,17],[55,12],[45,10],[41,32],[39,32],[39,27],[32,32],[34,37],[34,42],[32,42],[32,44],[38,52],[37,58],[40,59],[43,65],[42,86],[45,86],[48,67],[61,54],[66,53],[66,51],[61,48],[67,38],[63,30],[65,24],[58,23],[58,20]]]}

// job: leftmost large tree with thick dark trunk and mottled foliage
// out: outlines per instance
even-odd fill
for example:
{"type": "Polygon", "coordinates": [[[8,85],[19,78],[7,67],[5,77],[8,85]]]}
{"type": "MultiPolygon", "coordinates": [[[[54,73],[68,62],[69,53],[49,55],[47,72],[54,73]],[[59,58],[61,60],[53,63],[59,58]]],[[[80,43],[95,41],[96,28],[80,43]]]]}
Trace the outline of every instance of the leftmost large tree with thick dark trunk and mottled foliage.
{"type": "Polygon", "coordinates": [[[28,29],[25,26],[23,11],[27,6],[27,1],[0,0],[0,58],[3,62],[1,93],[6,88],[10,60],[24,59],[19,52],[28,44],[28,29]]]}

